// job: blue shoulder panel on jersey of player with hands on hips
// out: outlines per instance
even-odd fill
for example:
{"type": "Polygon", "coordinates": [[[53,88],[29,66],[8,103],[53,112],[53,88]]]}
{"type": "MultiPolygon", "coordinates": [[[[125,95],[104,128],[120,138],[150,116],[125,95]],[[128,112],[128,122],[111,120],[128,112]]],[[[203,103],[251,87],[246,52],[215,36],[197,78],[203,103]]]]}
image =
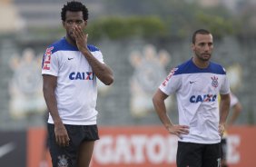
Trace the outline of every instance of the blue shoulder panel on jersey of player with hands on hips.
{"type": "Polygon", "coordinates": [[[199,68],[193,64],[192,59],[177,66],[176,74],[196,74],[196,73],[212,73],[212,74],[226,74],[225,69],[220,64],[210,62],[207,68],[199,68]]]}

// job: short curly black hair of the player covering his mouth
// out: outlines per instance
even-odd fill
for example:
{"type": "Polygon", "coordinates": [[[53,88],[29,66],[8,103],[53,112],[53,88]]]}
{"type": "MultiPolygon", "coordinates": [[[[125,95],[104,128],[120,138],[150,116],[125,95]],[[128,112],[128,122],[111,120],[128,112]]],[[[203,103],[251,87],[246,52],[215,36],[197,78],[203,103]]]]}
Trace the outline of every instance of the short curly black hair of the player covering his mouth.
{"type": "Polygon", "coordinates": [[[62,8],[62,13],[61,13],[63,21],[65,21],[66,11],[71,11],[71,12],[82,11],[84,20],[88,20],[88,9],[81,2],[71,1],[71,2],[67,2],[66,5],[64,5],[64,7],[62,8]]]}

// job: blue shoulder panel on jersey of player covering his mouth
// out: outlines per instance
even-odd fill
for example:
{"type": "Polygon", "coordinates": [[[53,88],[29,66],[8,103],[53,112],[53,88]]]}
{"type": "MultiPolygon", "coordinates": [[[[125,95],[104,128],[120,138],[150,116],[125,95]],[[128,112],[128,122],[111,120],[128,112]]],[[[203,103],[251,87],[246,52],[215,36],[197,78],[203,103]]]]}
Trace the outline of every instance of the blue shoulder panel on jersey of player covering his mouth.
{"type": "MultiPolygon", "coordinates": [[[[54,44],[51,44],[49,47],[51,46],[54,46],[54,50],[52,51],[52,54],[54,54],[57,51],[79,51],[76,46],[69,44],[65,38],[62,38],[59,41],[55,42],[54,44]]],[[[91,52],[99,51],[99,49],[94,45],[87,44],[87,47],[91,52]]]]}

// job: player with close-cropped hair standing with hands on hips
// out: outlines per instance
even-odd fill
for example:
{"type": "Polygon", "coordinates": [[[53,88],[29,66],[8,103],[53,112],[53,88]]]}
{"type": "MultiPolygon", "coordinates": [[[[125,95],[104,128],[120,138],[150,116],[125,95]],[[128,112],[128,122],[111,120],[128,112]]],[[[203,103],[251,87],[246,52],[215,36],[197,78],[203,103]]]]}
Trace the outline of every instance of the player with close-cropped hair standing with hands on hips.
{"type": "Polygon", "coordinates": [[[173,68],[153,95],[153,105],[166,130],[179,137],[178,167],[221,165],[221,138],[230,107],[230,84],[222,65],[211,61],[212,34],[192,35],[193,56],[173,68]],[[179,124],[173,124],[164,100],[176,94],[179,124]],[[219,110],[218,94],[221,95],[219,110]]]}

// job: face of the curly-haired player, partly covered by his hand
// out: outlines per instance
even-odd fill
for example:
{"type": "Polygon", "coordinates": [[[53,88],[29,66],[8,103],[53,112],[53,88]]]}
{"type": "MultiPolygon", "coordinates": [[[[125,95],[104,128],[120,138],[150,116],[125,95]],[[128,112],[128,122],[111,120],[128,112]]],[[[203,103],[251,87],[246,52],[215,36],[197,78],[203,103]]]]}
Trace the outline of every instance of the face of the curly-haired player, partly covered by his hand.
{"type": "Polygon", "coordinates": [[[64,29],[66,30],[67,37],[75,41],[74,38],[74,26],[80,26],[82,30],[87,25],[87,21],[84,21],[83,12],[71,12],[67,11],[65,14],[65,21],[63,22],[64,29]]]}

